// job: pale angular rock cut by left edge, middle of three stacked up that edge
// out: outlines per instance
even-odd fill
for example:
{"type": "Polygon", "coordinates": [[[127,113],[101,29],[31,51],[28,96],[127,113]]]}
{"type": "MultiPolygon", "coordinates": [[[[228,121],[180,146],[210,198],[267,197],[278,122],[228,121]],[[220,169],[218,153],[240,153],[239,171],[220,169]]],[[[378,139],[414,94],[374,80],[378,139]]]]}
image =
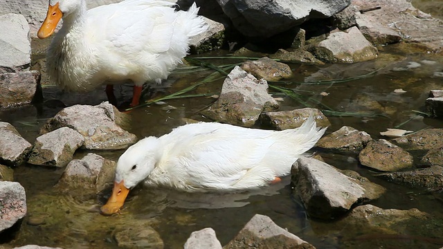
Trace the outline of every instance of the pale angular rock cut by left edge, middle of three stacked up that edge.
{"type": "Polygon", "coordinates": [[[7,122],[0,122],[0,163],[8,166],[21,165],[33,147],[7,122]]]}

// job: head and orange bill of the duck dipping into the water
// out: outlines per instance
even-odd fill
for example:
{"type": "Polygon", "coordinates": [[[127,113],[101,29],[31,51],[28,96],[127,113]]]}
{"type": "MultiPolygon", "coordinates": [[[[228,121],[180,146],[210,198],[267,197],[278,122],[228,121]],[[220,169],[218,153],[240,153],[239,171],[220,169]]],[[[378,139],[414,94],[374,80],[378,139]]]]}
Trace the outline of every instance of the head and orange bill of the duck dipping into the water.
{"type": "Polygon", "coordinates": [[[114,214],[125,203],[129,190],[145,180],[158,161],[157,138],[149,137],[132,145],[118,158],[116,179],[112,194],[100,208],[102,214],[114,214]]]}

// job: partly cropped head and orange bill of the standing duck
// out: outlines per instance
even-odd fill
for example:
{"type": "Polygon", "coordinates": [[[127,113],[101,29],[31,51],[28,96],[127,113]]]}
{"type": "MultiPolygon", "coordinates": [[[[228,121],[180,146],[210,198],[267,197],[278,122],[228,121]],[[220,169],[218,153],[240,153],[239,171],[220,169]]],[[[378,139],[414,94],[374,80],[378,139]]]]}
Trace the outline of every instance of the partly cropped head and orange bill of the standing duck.
{"type": "Polygon", "coordinates": [[[80,9],[81,4],[81,0],[49,0],[48,13],[37,37],[44,39],[52,35],[60,19],[80,9]]]}

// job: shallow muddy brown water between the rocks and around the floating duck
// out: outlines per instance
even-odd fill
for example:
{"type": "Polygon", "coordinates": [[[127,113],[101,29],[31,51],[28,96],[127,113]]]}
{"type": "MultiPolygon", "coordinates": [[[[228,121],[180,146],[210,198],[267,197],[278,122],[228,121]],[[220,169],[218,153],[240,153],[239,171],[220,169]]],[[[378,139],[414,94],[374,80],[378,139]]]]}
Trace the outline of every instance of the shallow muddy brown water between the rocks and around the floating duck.
{"type": "MultiPolygon", "coordinates": [[[[238,62],[238,61],[235,61],[238,62]]],[[[214,64],[229,64],[232,61],[215,60],[214,64]]],[[[282,97],[280,109],[290,110],[306,107],[354,113],[352,116],[332,116],[328,133],[343,125],[370,133],[378,139],[380,131],[402,124],[401,129],[418,131],[428,127],[442,128],[443,122],[422,118],[416,111],[424,111],[428,91],[443,89],[443,58],[411,51],[404,54],[396,46],[384,48],[381,57],[360,64],[336,64],[322,67],[291,65],[296,71],[291,84],[281,86],[296,89],[302,102],[282,97]],[[419,64],[419,66],[417,66],[419,64]],[[359,77],[367,75],[365,77],[359,77]],[[340,81],[352,79],[350,81],[340,81]],[[338,80],[331,82],[330,80],[338,80]],[[300,84],[305,82],[309,84],[300,84]],[[320,82],[320,83],[319,83],[320,82]],[[406,93],[394,93],[403,89],[406,93]],[[327,93],[322,95],[320,93],[327,93]],[[321,103],[323,105],[319,105],[321,103]],[[372,113],[372,116],[360,116],[372,113]]],[[[156,96],[167,95],[195,84],[210,71],[171,75],[165,86],[153,91],[156,96]]],[[[222,80],[199,86],[193,93],[218,93],[222,80]]],[[[99,104],[106,100],[103,89],[87,93],[63,93],[55,87],[45,87],[43,104],[0,111],[0,120],[10,122],[28,141],[33,142],[39,128],[64,106],[73,104],[99,104]]],[[[130,100],[132,86],[120,86],[116,95],[120,102],[130,100]]],[[[151,98],[145,95],[145,98],[151,98]]],[[[204,120],[199,110],[214,98],[183,98],[168,100],[165,104],[152,104],[135,109],[129,131],[139,138],[161,136],[183,124],[183,118],[204,120]],[[170,108],[168,106],[174,107],[170,108]]],[[[75,158],[88,152],[117,160],[120,151],[78,151],[75,158]]],[[[356,157],[320,153],[327,163],[340,169],[352,169],[368,177],[388,191],[381,199],[372,202],[380,208],[408,210],[417,208],[423,212],[440,215],[443,195],[425,190],[395,185],[374,176],[368,168],[359,165],[356,157]]],[[[282,228],[312,243],[317,248],[440,248],[442,245],[417,239],[386,239],[383,236],[369,239],[344,241],[346,228],[335,228],[334,222],[313,221],[307,217],[302,205],[291,194],[289,177],[282,184],[256,192],[188,194],[174,190],[136,187],[129,194],[125,208],[120,214],[102,216],[98,206],[105,203],[110,190],[93,197],[82,197],[79,190],[61,196],[54,189],[64,169],[22,165],[15,169],[15,180],[26,189],[28,215],[14,238],[8,238],[1,246],[60,246],[62,248],[118,248],[115,239],[121,231],[137,231],[153,228],[163,239],[165,248],[183,248],[190,233],[202,228],[213,228],[222,245],[233,239],[254,214],[264,214],[282,228]],[[396,246],[397,245],[397,246],[396,246]],[[418,247],[417,247],[418,246],[418,247]],[[401,247],[400,247],[401,248],[401,247]]],[[[415,234],[411,228],[411,234],[415,234]]],[[[364,231],[362,231],[364,234],[364,231]]],[[[407,235],[407,234],[406,234],[407,235]]],[[[154,236],[155,237],[155,236],[154,236]]],[[[3,239],[3,238],[2,238],[3,239]]],[[[153,239],[155,240],[155,238],[153,239]]],[[[1,247],[0,246],[0,247],[1,247]]]]}

